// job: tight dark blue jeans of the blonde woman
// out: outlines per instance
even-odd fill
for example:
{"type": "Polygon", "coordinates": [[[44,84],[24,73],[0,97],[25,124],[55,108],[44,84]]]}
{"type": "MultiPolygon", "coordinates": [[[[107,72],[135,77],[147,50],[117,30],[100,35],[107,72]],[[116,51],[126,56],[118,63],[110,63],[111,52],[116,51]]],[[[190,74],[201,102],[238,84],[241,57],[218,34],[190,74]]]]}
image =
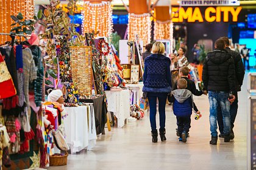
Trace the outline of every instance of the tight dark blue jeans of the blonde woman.
{"type": "Polygon", "coordinates": [[[157,130],[157,123],[155,121],[155,115],[157,114],[157,98],[158,98],[158,111],[159,111],[159,121],[160,121],[160,129],[165,129],[165,105],[167,94],[165,96],[156,97],[156,96],[149,96],[149,108],[150,108],[150,124],[151,130],[157,130]]]}

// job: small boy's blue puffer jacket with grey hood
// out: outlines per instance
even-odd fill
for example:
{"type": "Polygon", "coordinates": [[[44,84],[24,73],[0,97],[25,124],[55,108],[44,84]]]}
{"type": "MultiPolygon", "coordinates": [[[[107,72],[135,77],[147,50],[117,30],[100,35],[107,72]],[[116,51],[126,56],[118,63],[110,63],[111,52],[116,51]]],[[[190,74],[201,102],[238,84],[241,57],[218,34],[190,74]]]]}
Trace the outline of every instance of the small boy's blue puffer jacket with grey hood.
{"type": "Polygon", "coordinates": [[[192,94],[187,89],[177,89],[171,92],[173,112],[177,117],[190,117],[192,114],[192,94]]]}

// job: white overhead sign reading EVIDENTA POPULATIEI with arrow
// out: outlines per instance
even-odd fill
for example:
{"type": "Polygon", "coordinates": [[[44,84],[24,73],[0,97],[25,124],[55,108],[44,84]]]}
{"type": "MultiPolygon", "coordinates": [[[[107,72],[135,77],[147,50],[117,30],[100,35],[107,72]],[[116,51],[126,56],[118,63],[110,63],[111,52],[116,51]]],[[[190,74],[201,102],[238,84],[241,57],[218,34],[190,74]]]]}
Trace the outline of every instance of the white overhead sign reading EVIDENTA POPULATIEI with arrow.
{"type": "Polygon", "coordinates": [[[238,0],[182,0],[180,6],[239,6],[238,0]]]}

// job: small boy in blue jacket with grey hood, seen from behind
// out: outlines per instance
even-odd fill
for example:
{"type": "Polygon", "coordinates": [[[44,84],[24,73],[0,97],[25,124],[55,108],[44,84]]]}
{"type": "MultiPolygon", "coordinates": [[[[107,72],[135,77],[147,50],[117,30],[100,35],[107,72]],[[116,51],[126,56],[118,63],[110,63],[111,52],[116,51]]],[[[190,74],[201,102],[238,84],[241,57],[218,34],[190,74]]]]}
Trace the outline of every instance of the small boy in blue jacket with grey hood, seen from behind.
{"type": "Polygon", "coordinates": [[[187,142],[188,131],[190,131],[192,108],[198,112],[193,106],[192,93],[187,90],[187,81],[185,78],[180,78],[177,81],[177,90],[171,92],[171,97],[168,97],[170,103],[173,103],[173,112],[177,118],[177,135],[179,141],[187,142]]]}

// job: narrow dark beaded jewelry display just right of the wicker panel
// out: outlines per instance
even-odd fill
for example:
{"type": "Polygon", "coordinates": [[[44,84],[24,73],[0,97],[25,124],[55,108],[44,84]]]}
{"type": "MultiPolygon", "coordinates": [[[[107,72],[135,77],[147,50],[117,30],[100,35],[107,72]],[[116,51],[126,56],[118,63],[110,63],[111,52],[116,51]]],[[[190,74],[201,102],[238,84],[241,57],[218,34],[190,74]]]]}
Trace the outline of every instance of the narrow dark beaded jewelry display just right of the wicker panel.
{"type": "Polygon", "coordinates": [[[94,84],[96,86],[96,91],[98,94],[104,94],[103,89],[103,80],[102,80],[102,66],[100,61],[101,54],[99,53],[99,50],[97,50],[95,43],[94,43],[94,37],[92,33],[85,33],[87,46],[92,47],[92,64],[93,64],[93,78],[94,78],[94,84]]]}

